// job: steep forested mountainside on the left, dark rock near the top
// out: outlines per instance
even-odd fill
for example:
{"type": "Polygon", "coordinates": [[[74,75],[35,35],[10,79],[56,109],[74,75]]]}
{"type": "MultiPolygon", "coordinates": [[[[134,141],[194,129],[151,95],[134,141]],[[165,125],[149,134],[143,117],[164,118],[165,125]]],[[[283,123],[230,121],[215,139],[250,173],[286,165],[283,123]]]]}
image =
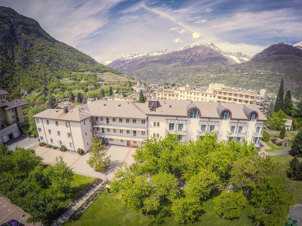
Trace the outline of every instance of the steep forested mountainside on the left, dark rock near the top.
{"type": "Polygon", "coordinates": [[[0,89],[10,92],[10,98],[21,96],[21,90],[47,93],[50,87],[66,86],[60,78],[85,71],[119,74],[57,41],[36,20],[0,7],[0,89]]]}

